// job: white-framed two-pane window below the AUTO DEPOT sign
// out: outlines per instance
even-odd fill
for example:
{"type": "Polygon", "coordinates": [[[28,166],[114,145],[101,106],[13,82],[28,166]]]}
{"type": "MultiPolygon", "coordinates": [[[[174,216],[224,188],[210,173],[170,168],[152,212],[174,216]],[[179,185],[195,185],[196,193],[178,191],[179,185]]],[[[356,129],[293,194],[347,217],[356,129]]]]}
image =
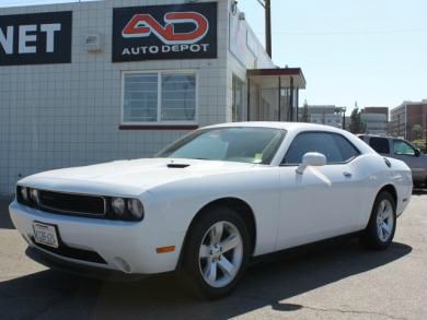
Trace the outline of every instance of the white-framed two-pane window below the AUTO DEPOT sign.
{"type": "Polygon", "coordinates": [[[196,74],[125,72],[122,120],[126,125],[195,123],[196,74]]]}

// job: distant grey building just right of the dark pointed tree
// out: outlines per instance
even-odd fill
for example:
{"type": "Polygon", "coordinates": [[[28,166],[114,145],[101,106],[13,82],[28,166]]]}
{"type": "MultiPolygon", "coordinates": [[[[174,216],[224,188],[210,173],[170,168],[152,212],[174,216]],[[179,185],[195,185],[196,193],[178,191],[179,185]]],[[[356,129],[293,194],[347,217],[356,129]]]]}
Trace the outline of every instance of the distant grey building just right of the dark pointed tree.
{"type": "Polygon", "coordinates": [[[365,133],[386,134],[389,131],[388,107],[365,107],[360,119],[365,123],[365,133]]]}

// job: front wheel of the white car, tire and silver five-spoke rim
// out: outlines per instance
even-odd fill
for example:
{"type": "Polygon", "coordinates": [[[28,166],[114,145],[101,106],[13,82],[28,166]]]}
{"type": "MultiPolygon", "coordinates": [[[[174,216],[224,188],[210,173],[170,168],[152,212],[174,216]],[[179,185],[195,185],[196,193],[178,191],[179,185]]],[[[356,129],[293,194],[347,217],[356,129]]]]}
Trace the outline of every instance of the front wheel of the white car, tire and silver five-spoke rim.
{"type": "Polygon", "coordinates": [[[230,208],[217,206],[203,212],[191,227],[182,261],[193,292],[218,299],[235,288],[249,257],[250,236],[243,218],[230,208]]]}

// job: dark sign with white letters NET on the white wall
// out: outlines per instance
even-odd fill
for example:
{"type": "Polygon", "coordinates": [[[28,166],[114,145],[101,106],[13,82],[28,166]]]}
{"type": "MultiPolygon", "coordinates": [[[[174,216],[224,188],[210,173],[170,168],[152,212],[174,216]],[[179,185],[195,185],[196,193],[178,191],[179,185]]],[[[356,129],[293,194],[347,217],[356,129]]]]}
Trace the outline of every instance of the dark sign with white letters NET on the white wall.
{"type": "Polygon", "coordinates": [[[71,11],[0,15],[0,66],[71,62],[71,11]]]}

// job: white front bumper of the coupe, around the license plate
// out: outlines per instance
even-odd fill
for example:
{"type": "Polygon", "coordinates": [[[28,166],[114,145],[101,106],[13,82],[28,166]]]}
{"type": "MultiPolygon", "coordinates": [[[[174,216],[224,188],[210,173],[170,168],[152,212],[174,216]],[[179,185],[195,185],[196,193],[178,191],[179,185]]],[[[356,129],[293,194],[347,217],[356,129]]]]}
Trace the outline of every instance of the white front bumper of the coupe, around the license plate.
{"type": "Polygon", "coordinates": [[[51,214],[16,201],[11,203],[9,211],[13,224],[31,248],[51,259],[100,270],[131,274],[173,271],[184,239],[184,234],[171,233],[155,215],[147,215],[139,223],[107,221],[51,214]],[[33,241],[34,222],[57,227],[60,250],[49,250],[33,241]],[[175,246],[175,251],[157,253],[157,248],[168,246],[175,246]],[[101,259],[92,259],[96,256],[101,259]]]}

